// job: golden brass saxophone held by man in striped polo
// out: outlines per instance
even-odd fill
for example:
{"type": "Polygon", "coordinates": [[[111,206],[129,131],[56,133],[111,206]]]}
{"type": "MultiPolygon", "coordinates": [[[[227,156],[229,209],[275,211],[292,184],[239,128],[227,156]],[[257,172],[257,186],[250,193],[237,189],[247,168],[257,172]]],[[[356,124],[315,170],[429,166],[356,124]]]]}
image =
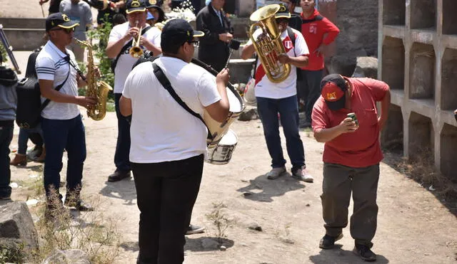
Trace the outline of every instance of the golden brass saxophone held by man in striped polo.
{"type": "Polygon", "coordinates": [[[94,68],[94,56],[92,54],[92,45],[87,41],[80,41],[74,38],[80,46],[87,48],[87,75],[86,75],[86,96],[96,98],[96,104],[87,108],[87,116],[93,120],[102,120],[106,115],[106,99],[110,90],[113,90],[108,83],[103,80],[97,80],[94,68]]]}

